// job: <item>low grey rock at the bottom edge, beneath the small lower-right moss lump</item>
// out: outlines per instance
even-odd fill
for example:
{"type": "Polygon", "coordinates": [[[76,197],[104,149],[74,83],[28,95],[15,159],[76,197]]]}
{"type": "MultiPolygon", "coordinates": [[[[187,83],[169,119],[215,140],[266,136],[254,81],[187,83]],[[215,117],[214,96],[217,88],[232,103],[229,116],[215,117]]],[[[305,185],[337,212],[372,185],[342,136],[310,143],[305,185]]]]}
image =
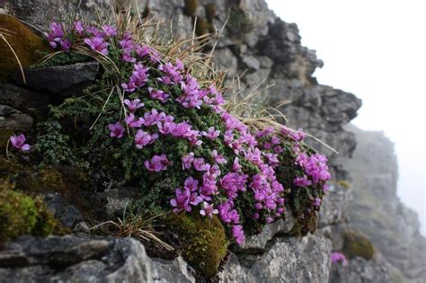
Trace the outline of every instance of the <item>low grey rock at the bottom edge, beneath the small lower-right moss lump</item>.
{"type": "Polygon", "coordinates": [[[388,283],[392,282],[389,272],[389,265],[385,262],[356,258],[346,265],[333,264],[329,282],[388,283]]]}

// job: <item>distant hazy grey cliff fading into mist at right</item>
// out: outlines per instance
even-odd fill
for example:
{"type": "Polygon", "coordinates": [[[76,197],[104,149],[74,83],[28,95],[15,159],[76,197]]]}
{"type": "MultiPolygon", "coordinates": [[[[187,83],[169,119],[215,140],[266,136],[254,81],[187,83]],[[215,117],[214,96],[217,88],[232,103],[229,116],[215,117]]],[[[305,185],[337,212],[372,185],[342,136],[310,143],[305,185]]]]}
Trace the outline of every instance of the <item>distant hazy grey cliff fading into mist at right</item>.
{"type": "Polygon", "coordinates": [[[348,162],[354,201],[350,226],[364,232],[408,282],[426,278],[426,239],[417,214],[396,195],[398,166],[394,144],[383,132],[351,127],[357,149],[348,162]]]}

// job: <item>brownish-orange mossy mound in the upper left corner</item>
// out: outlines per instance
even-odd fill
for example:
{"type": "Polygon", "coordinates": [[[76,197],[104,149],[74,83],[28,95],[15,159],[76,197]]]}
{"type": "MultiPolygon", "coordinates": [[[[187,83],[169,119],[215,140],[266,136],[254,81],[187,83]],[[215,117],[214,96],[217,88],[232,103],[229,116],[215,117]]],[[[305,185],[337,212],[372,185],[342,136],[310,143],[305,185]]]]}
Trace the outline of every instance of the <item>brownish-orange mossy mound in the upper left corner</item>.
{"type": "MultiPolygon", "coordinates": [[[[0,32],[9,42],[23,68],[37,63],[51,51],[49,44],[11,15],[0,14],[0,32]]],[[[19,69],[18,61],[7,43],[0,38],[0,82],[19,69]]]]}

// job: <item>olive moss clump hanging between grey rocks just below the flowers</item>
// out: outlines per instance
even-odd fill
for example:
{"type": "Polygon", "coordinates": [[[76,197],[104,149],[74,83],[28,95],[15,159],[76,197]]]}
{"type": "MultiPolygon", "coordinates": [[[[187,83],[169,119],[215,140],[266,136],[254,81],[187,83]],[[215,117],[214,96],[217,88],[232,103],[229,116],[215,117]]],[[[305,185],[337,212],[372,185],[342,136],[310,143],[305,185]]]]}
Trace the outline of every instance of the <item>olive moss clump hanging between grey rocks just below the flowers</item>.
{"type": "Polygon", "coordinates": [[[165,223],[178,235],[183,258],[203,277],[215,275],[226,257],[229,244],[220,220],[217,217],[171,214],[165,223]]]}

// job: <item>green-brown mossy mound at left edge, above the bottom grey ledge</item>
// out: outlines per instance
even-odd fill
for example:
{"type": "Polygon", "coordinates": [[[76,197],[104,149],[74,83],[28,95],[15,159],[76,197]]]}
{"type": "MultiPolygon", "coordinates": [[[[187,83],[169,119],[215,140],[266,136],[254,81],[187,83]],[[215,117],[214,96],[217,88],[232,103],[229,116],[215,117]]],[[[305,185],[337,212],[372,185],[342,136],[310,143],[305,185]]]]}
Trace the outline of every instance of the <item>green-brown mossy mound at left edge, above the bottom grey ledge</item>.
{"type": "Polygon", "coordinates": [[[45,236],[58,227],[40,198],[13,190],[7,181],[0,183],[0,243],[22,234],[45,236]]]}

